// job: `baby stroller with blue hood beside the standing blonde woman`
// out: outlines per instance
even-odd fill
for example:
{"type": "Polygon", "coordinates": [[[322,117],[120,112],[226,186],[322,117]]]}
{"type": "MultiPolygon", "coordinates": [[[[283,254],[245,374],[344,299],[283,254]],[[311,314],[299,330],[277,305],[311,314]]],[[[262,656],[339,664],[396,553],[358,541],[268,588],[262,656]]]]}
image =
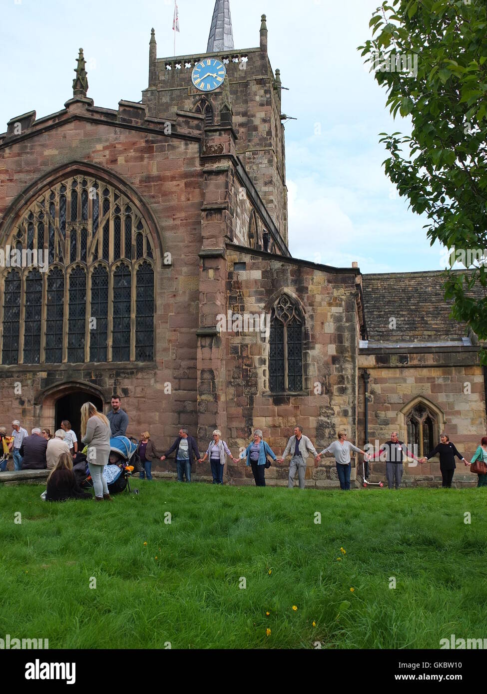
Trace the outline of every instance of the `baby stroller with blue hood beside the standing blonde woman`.
{"type": "MultiPolygon", "coordinates": [[[[137,443],[134,442],[134,439],[124,436],[110,439],[110,456],[108,457],[108,464],[104,466],[102,473],[110,494],[119,494],[125,490],[129,492],[132,491],[129,479],[134,469],[138,466],[136,450],[137,443]]],[[[76,456],[76,464],[73,466],[73,472],[82,489],[92,488],[93,482],[90,475],[90,468],[88,467],[86,456],[83,453],[76,456]]],[[[138,494],[139,490],[134,489],[133,493],[138,494]]]]}

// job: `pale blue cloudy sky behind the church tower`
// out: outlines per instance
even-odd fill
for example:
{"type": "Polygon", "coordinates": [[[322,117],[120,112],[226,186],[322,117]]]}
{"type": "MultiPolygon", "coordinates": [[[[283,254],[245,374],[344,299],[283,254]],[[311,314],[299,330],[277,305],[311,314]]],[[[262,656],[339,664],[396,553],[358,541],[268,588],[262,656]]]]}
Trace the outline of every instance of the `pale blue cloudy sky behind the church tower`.
{"type": "MultiPolygon", "coordinates": [[[[214,0],[178,0],[176,55],[206,51],[214,0]]],[[[386,90],[357,46],[371,37],[377,0],[230,0],[236,49],[259,44],[267,15],[268,54],[281,70],[286,121],[290,252],[363,273],[445,269],[445,251],[429,245],[425,217],[383,171],[379,133],[411,132],[394,120],[386,90]]],[[[149,39],[158,58],[174,55],[174,0],[0,0],[0,132],[35,110],[43,117],[72,98],[79,48],[88,96],[117,108],[147,87],[149,39]]]]}

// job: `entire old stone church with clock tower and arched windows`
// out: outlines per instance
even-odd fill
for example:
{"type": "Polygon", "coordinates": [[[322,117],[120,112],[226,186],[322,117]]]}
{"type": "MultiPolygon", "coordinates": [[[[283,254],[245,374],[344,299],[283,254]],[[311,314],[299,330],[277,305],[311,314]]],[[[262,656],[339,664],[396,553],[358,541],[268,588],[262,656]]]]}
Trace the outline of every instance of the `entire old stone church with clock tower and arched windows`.
{"type": "MultiPolygon", "coordinates": [[[[118,393],[127,433],[149,430],[161,451],[181,425],[201,455],[215,428],[233,455],[261,428],[279,456],[298,423],[318,450],[341,428],[361,447],[398,430],[422,455],[445,430],[472,455],[485,374],[474,336],[448,317],[441,273],[362,275],[290,255],[285,119],[265,15],[258,46],[237,50],[229,0],[217,0],[206,53],[158,58],[152,30],[139,103],[95,105],[80,49],[64,108],[8,121],[1,425],[67,418],[79,433],[81,404],[106,412],[118,393]],[[28,262],[43,250],[43,266],[28,262]]],[[[273,465],[267,483],[287,474],[273,465]]],[[[438,462],[406,466],[405,484],[439,479],[438,462]]],[[[333,459],[306,480],[337,486],[333,459]]],[[[254,483],[231,463],[226,482],[254,483]]]]}

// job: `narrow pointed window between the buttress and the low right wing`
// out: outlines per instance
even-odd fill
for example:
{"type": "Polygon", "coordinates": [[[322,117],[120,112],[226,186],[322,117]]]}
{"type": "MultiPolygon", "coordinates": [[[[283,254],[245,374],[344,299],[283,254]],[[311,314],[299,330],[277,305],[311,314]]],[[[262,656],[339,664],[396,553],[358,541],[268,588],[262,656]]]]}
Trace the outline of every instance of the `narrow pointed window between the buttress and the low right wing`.
{"type": "Polygon", "coordinates": [[[269,388],[272,393],[303,389],[304,319],[297,303],[284,294],[272,309],[269,388]]]}

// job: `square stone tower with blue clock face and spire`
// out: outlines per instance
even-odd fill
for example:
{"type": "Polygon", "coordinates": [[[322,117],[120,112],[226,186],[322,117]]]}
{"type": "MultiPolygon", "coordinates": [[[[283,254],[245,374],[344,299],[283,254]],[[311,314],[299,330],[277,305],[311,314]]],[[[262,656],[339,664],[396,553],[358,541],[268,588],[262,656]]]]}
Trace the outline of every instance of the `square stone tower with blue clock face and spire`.
{"type": "Polygon", "coordinates": [[[236,154],[287,245],[281,77],[278,69],[274,73],[267,56],[265,15],[261,17],[258,47],[236,50],[233,45],[229,0],[215,1],[206,53],[157,58],[153,30],[149,43],[149,86],[142,92],[142,103],[147,105],[147,115],[156,119],[174,119],[176,111],[202,114],[205,129],[213,133],[223,123],[229,123],[231,105],[231,123],[237,135],[236,154]],[[216,73],[213,84],[205,85],[195,77],[195,73],[204,77],[201,65],[214,67],[220,62],[226,72],[221,82],[216,73]]]}

